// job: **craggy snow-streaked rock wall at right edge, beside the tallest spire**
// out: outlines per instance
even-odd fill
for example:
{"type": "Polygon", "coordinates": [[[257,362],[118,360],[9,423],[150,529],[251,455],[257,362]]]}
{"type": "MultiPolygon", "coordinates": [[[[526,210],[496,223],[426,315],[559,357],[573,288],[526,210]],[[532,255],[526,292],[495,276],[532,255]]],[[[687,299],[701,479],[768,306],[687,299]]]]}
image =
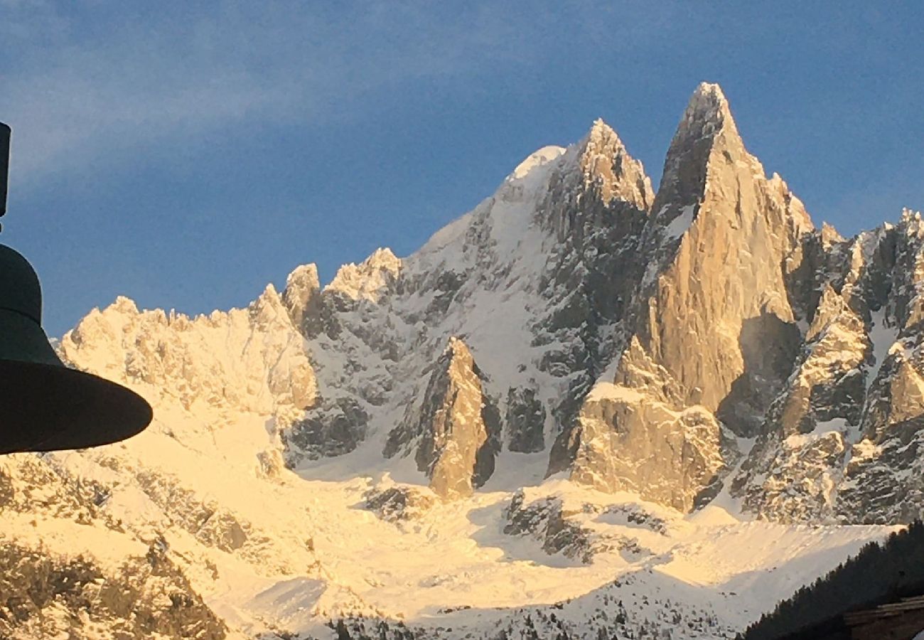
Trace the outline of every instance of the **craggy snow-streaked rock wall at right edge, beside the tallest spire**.
{"type": "Polygon", "coordinates": [[[920,215],[814,243],[802,354],[733,494],[783,522],[910,522],[924,513],[920,215]]]}

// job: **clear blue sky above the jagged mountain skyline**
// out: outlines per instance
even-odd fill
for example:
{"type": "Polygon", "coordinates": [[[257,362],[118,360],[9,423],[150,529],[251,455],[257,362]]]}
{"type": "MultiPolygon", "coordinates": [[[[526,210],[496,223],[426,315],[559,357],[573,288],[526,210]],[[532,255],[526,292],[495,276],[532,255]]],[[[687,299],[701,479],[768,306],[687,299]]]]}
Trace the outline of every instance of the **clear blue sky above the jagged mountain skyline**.
{"type": "Polygon", "coordinates": [[[854,233],[924,208],[920,7],[0,0],[0,240],[51,335],[119,294],[240,306],[299,264],[413,252],[596,117],[657,184],[701,80],[854,233]]]}

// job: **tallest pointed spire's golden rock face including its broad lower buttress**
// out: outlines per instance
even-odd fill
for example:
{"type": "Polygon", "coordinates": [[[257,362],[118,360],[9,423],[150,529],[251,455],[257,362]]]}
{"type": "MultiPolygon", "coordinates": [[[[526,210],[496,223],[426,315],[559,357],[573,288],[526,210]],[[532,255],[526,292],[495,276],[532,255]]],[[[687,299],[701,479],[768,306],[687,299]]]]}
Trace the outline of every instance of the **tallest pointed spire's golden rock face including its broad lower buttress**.
{"type": "Polygon", "coordinates": [[[811,229],[748,154],[716,85],[690,100],[667,155],[624,347],[585,398],[572,477],[689,511],[760,430],[798,350],[787,280],[811,229]]]}

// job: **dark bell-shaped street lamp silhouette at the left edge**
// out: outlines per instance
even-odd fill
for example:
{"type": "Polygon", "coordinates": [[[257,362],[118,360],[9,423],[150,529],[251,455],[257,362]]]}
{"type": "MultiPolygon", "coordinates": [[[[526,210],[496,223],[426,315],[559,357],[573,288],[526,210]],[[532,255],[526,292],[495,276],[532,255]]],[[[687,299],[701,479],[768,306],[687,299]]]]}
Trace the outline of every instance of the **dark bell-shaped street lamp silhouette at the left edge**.
{"type": "MultiPolygon", "coordinates": [[[[0,215],[6,214],[10,128],[0,122],[0,215]]],[[[134,391],[61,362],[42,328],[32,265],[0,244],[0,453],[85,449],[151,424],[134,391]]]]}

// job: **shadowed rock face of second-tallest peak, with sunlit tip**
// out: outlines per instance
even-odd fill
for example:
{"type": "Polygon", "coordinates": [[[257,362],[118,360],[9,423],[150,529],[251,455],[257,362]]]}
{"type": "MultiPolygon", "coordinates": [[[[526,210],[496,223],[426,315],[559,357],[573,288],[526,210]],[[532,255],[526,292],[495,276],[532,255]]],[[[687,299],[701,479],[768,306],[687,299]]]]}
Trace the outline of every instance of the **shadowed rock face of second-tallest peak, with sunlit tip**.
{"type": "MultiPolygon", "coordinates": [[[[614,356],[618,325],[644,271],[639,240],[654,200],[641,163],[602,120],[573,153],[552,173],[538,222],[554,244],[537,286],[549,311],[537,319],[533,345],[552,347],[539,369],[563,383],[547,410],[554,421],[549,473],[572,462],[568,435],[581,400],[614,356]]],[[[512,392],[511,400],[522,400],[512,392]]]]}

